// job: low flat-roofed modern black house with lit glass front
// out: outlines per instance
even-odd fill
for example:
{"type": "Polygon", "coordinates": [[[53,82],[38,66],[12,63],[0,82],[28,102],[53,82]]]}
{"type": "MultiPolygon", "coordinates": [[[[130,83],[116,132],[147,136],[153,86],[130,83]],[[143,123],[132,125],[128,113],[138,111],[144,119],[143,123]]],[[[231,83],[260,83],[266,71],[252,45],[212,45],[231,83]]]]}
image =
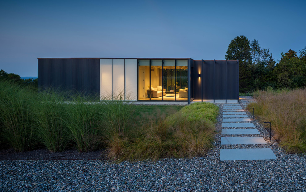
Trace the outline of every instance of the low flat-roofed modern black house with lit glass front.
{"type": "Polygon", "coordinates": [[[191,58],[37,58],[38,88],[100,100],[238,102],[238,61],[191,58]]]}

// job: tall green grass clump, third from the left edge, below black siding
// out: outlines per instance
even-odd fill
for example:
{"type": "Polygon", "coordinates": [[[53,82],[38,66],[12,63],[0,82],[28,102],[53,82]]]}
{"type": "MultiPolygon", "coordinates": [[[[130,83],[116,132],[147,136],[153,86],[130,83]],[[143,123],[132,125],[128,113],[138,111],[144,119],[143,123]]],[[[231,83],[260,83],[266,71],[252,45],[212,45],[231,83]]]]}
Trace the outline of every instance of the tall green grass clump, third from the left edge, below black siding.
{"type": "Polygon", "coordinates": [[[95,151],[102,144],[102,105],[88,102],[83,95],[74,96],[72,100],[63,103],[65,112],[62,114],[70,139],[79,152],[95,151]]]}

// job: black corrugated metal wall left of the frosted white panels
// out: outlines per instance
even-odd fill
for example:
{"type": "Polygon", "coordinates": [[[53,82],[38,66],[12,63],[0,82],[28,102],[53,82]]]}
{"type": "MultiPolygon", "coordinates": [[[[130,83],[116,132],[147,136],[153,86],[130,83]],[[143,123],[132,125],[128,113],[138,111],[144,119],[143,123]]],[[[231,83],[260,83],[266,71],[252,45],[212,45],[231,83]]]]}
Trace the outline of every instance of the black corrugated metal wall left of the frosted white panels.
{"type": "Polygon", "coordinates": [[[38,59],[38,87],[60,91],[100,94],[100,59],[38,59]]]}

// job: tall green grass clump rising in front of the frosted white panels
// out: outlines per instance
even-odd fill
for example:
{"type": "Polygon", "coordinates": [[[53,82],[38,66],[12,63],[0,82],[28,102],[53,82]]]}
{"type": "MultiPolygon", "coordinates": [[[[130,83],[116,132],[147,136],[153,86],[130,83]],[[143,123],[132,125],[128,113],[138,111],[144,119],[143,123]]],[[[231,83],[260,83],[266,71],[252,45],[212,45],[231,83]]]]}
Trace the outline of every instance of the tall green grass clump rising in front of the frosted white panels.
{"type": "Polygon", "coordinates": [[[124,154],[133,133],[134,106],[124,100],[124,92],[120,92],[113,101],[104,101],[104,112],[101,117],[106,133],[108,158],[111,159],[124,154]]]}

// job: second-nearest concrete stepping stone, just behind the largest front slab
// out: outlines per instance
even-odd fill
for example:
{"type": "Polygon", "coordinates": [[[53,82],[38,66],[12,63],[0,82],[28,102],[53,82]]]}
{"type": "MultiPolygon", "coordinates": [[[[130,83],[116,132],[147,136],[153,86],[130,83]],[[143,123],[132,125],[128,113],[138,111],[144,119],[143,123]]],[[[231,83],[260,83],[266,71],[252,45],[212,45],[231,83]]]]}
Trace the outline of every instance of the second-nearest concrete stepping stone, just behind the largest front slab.
{"type": "Polygon", "coordinates": [[[267,144],[263,137],[221,137],[221,145],[267,144]]]}

